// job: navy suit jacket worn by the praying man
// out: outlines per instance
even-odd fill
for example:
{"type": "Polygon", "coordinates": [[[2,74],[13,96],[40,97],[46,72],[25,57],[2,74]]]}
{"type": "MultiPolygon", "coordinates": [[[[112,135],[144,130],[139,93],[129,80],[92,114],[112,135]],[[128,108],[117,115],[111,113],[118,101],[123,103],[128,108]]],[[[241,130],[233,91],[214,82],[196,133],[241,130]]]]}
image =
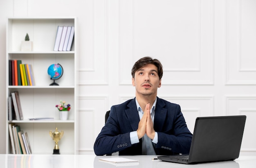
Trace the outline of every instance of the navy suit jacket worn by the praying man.
{"type": "MultiPolygon", "coordinates": [[[[109,118],[94,143],[96,155],[142,155],[141,139],[131,144],[130,132],[137,131],[139,113],[135,98],[110,109],[109,118]]],[[[157,97],[154,130],[158,134],[157,144],[153,143],[156,155],[188,154],[192,134],[186,126],[180,105],[157,97]]]]}

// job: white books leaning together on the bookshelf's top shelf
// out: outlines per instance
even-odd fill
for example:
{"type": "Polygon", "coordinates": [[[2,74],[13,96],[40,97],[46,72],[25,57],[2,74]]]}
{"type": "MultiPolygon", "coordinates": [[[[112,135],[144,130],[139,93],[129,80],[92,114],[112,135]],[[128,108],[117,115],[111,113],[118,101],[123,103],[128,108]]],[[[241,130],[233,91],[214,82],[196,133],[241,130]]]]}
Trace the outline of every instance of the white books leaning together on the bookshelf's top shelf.
{"type": "Polygon", "coordinates": [[[74,26],[58,26],[54,51],[70,51],[74,39],[74,26]]]}

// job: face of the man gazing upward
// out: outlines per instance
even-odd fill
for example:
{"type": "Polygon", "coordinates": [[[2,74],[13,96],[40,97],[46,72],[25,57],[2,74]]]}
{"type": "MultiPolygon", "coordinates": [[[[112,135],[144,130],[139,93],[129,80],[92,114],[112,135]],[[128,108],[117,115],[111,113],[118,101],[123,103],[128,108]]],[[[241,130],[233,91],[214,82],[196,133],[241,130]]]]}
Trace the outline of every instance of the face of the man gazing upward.
{"type": "Polygon", "coordinates": [[[137,94],[143,96],[157,96],[157,88],[161,87],[161,79],[157,74],[157,67],[148,64],[135,72],[132,78],[132,85],[135,86],[137,94]]]}

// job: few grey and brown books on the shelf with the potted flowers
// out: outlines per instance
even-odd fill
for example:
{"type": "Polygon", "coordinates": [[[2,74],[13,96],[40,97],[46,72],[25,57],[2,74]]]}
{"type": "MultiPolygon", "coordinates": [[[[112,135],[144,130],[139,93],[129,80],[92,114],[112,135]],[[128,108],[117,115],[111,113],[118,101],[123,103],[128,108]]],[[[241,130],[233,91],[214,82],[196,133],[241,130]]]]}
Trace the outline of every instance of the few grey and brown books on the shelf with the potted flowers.
{"type": "Polygon", "coordinates": [[[8,120],[23,120],[19,92],[12,92],[8,97],[8,120]]]}

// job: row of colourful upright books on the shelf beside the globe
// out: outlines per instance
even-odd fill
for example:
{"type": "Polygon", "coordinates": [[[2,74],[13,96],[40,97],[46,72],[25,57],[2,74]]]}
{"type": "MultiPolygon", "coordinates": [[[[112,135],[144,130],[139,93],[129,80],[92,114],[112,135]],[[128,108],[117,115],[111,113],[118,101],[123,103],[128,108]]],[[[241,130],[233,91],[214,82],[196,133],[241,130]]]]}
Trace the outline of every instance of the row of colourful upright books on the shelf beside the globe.
{"type": "Polygon", "coordinates": [[[21,60],[9,59],[9,85],[34,86],[35,79],[31,64],[22,64],[21,60]]]}

